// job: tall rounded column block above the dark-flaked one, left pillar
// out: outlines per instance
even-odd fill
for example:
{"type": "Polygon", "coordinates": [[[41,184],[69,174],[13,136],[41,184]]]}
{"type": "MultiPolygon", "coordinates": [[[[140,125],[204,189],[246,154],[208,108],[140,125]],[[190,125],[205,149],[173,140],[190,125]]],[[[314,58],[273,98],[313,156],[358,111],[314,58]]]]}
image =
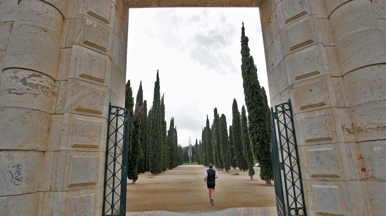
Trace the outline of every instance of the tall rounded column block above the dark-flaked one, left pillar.
{"type": "Polygon", "coordinates": [[[3,70],[25,68],[56,77],[62,21],[59,11],[46,2],[20,1],[3,70]]]}

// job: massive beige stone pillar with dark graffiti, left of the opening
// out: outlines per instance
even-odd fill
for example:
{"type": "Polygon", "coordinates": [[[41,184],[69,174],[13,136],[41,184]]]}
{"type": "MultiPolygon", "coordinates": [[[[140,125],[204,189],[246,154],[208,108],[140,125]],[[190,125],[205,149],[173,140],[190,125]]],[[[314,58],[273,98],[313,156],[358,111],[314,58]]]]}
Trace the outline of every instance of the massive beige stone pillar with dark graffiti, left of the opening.
{"type": "Polygon", "coordinates": [[[0,0],[5,214],[102,214],[108,103],[125,98],[123,2],[0,0]]]}

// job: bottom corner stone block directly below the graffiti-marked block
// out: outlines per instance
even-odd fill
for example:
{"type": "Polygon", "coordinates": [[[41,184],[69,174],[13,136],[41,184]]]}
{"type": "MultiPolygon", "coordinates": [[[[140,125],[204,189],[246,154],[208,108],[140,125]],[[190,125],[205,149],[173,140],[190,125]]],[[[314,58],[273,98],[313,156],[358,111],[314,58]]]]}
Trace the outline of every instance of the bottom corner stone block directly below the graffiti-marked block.
{"type": "Polygon", "coordinates": [[[44,192],[35,192],[32,194],[0,197],[1,214],[4,216],[25,215],[26,213],[29,215],[40,215],[42,206],[39,204],[43,201],[43,195],[44,192]]]}

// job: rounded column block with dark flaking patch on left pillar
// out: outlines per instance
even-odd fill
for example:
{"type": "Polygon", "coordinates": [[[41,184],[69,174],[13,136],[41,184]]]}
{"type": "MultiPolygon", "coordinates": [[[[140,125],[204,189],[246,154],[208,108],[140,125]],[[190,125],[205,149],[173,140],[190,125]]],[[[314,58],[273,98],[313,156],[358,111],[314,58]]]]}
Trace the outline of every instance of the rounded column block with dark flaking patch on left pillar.
{"type": "Polygon", "coordinates": [[[4,70],[0,86],[0,106],[24,107],[54,113],[58,82],[31,70],[12,68],[4,70]]]}

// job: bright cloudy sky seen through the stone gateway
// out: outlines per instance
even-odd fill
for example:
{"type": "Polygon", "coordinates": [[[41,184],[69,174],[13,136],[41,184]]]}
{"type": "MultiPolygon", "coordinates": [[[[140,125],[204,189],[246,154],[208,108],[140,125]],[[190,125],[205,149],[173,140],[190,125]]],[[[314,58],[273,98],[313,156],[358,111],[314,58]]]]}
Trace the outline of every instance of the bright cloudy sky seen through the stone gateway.
{"type": "MultiPolygon", "coordinates": [[[[157,8],[130,9],[127,80],[134,99],[142,80],[148,109],[159,70],[165,94],[166,122],[177,126],[178,143],[201,139],[207,114],[213,109],[232,124],[235,98],[245,105],[241,77],[241,23],[258,68],[261,85],[268,88],[258,8],[157,8]]],[[[268,94],[268,92],[267,92],[268,94]]]]}

